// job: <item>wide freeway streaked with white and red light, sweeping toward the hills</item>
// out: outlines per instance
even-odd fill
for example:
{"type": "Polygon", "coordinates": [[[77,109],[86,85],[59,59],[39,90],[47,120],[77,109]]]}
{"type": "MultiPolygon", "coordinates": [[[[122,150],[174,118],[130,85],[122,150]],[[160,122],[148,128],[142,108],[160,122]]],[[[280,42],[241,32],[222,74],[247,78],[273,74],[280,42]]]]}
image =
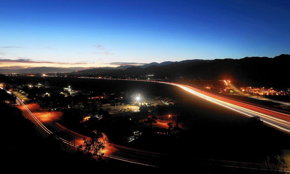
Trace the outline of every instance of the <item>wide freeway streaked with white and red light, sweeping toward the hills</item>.
{"type": "MultiPolygon", "coordinates": [[[[57,77],[57,76],[49,76],[49,77],[57,77]]],[[[75,78],[88,78],[88,79],[108,79],[108,78],[97,78],[97,77],[75,77],[75,78]]],[[[265,108],[262,106],[258,106],[253,103],[237,101],[235,99],[230,99],[228,97],[224,97],[222,95],[216,95],[209,92],[205,92],[199,90],[197,88],[193,88],[188,85],[178,84],[173,82],[164,82],[164,81],[152,81],[152,80],[133,80],[133,79],[110,79],[110,80],[128,80],[128,81],[147,81],[154,83],[163,83],[174,85],[186,90],[187,92],[205,99],[214,104],[218,104],[224,108],[232,110],[236,113],[240,113],[247,117],[259,117],[264,123],[278,128],[278,130],[283,131],[285,133],[290,133],[290,112],[281,111],[274,108],[265,108]]]]}

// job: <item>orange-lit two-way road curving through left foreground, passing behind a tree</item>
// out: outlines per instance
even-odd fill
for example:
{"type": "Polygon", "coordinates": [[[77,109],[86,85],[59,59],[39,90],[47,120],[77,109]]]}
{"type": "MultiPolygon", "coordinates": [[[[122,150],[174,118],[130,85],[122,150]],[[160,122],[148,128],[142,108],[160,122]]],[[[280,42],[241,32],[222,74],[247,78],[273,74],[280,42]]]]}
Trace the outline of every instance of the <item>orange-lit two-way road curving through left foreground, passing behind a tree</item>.
{"type": "MultiPolygon", "coordinates": [[[[51,115],[50,112],[43,112],[43,109],[39,108],[37,104],[27,102],[28,99],[20,93],[14,92],[14,94],[19,102],[19,108],[22,110],[23,114],[36,125],[37,132],[42,137],[47,137],[52,134],[62,142],[70,144],[70,146],[74,146],[75,144],[76,147],[83,144],[84,138],[89,138],[73,132],[59,124],[59,117],[62,113],[54,111],[51,115]]],[[[164,157],[164,155],[160,153],[148,152],[109,143],[106,144],[103,153],[107,158],[153,167],[156,167],[155,165],[158,163],[160,158],[164,157]]]]}

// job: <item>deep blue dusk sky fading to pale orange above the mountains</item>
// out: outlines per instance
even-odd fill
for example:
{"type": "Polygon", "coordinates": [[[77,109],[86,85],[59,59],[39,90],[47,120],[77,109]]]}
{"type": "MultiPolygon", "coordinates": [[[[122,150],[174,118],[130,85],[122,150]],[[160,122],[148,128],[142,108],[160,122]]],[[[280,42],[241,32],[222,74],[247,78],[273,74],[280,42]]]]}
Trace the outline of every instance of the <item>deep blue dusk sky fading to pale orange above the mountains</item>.
{"type": "Polygon", "coordinates": [[[290,54],[290,1],[0,0],[0,68],[290,54]]]}

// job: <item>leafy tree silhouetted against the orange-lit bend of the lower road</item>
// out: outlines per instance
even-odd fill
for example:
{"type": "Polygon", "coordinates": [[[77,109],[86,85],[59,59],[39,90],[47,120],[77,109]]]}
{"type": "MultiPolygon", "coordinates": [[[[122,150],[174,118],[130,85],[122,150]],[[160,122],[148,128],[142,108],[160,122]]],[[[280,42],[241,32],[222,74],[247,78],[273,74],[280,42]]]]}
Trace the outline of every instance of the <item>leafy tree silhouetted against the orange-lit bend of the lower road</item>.
{"type": "Polygon", "coordinates": [[[91,154],[92,157],[97,158],[97,160],[102,159],[104,155],[102,151],[105,149],[105,145],[103,142],[99,141],[97,137],[85,139],[83,147],[85,153],[91,154]]]}

